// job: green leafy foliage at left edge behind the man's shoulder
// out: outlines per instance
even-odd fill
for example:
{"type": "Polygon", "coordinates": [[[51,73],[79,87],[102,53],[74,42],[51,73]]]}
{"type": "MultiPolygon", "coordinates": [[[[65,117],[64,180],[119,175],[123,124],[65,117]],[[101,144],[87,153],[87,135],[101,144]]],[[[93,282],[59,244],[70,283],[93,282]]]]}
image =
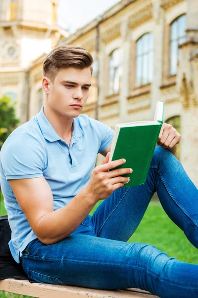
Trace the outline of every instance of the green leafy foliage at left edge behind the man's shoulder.
{"type": "Polygon", "coordinates": [[[0,149],[18,123],[19,120],[15,118],[14,104],[10,102],[10,97],[3,96],[0,98],[0,149]]]}

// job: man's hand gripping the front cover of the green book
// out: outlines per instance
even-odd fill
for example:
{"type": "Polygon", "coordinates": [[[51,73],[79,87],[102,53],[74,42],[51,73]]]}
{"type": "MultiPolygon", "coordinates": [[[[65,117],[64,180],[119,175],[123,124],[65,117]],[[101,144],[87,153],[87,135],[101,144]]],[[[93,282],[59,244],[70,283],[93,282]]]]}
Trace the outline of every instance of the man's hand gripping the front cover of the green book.
{"type": "Polygon", "coordinates": [[[121,177],[120,175],[132,173],[130,168],[120,168],[111,170],[126,162],[125,159],[114,161],[109,160],[110,152],[107,153],[101,165],[95,167],[92,171],[90,182],[85,187],[93,200],[99,201],[108,198],[111,193],[128,182],[129,178],[121,177]],[[109,171],[111,170],[111,171],[109,171]]]}

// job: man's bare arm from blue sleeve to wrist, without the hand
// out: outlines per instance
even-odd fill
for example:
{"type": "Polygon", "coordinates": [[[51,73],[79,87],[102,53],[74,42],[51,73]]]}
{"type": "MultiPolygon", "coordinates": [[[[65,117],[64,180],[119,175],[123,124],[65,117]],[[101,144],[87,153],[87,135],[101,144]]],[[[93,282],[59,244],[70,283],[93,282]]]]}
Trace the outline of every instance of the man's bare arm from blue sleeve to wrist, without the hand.
{"type": "Polygon", "coordinates": [[[44,244],[56,243],[70,235],[97,203],[82,190],[67,205],[53,211],[52,192],[44,177],[9,182],[31,228],[44,244]]]}

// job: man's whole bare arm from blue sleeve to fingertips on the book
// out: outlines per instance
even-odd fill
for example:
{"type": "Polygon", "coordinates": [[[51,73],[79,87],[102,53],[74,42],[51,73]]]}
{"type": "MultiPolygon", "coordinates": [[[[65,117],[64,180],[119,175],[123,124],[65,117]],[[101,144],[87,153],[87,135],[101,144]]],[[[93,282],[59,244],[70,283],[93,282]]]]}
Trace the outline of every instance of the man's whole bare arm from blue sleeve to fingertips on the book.
{"type": "Polygon", "coordinates": [[[69,236],[99,200],[106,199],[127,182],[120,175],[129,168],[113,169],[123,159],[108,162],[109,154],[91,174],[90,182],[65,206],[53,211],[53,196],[44,177],[9,180],[14,195],[38,239],[53,244],[69,236]]]}

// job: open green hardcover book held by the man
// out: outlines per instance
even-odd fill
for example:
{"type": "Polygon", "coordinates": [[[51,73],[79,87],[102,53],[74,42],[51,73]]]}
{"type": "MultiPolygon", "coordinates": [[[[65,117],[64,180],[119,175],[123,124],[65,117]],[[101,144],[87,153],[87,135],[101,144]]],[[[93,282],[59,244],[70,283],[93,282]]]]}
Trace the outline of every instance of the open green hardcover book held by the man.
{"type": "MultiPolygon", "coordinates": [[[[116,124],[109,161],[125,158],[126,162],[116,168],[132,168],[123,187],[144,184],[152,155],[163,123],[164,101],[157,101],[153,121],[116,124]]],[[[114,169],[116,169],[114,168],[114,169]]]]}

